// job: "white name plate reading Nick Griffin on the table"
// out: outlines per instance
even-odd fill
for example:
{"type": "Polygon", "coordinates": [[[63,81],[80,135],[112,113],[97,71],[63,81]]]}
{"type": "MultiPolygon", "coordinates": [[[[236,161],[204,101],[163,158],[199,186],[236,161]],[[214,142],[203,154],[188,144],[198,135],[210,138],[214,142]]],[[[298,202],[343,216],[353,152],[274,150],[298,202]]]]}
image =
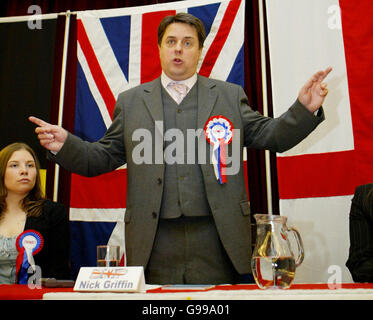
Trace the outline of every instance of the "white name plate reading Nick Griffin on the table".
{"type": "Polygon", "coordinates": [[[143,267],[82,267],[74,291],[145,292],[143,267]]]}

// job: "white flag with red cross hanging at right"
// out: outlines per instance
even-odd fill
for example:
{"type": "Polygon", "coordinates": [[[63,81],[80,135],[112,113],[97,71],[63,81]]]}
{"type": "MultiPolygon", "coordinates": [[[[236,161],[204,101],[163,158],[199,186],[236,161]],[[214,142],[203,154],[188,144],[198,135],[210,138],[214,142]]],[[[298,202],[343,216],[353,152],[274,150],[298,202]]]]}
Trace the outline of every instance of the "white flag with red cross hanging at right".
{"type": "Polygon", "coordinates": [[[349,212],[355,187],[373,181],[371,0],[267,0],[274,114],[328,66],[326,120],[277,157],[281,214],[300,231],[298,282],[351,282],[349,212]]]}

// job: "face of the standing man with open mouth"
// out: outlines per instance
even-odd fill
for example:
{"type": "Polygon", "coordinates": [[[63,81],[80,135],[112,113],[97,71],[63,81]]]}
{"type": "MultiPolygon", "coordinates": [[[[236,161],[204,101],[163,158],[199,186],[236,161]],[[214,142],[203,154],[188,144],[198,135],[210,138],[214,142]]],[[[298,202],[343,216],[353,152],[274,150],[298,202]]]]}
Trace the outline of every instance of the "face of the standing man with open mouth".
{"type": "Polygon", "coordinates": [[[202,48],[199,48],[194,27],[186,23],[171,23],[158,48],[162,70],[171,79],[188,79],[196,72],[202,48]]]}

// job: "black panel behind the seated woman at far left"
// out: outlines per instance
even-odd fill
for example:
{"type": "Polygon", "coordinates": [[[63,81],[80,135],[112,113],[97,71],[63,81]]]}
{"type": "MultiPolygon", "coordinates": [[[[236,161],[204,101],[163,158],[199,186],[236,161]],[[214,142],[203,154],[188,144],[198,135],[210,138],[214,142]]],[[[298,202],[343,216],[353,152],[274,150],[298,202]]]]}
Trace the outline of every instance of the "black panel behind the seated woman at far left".
{"type": "Polygon", "coordinates": [[[47,169],[30,114],[50,121],[56,19],[43,28],[27,22],[0,23],[0,149],[13,142],[31,146],[47,169]]]}

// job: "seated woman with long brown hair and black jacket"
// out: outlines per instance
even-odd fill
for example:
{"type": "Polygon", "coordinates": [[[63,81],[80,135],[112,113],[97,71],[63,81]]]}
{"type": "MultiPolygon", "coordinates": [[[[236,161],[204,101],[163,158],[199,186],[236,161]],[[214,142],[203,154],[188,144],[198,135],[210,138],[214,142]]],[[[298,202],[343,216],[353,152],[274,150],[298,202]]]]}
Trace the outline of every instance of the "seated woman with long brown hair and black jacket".
{"type": "Polygon", "coordinates": [[[41,277],[71,278],[67,210],[43,197],[39,169],[35,152],[26,144],[13,143],[0,151],[0,284],[15,283],[16,278],[19,283],[16,240],[29,230],[41,238],[41,250],[34,249],[32,257],[41,277]]]}

